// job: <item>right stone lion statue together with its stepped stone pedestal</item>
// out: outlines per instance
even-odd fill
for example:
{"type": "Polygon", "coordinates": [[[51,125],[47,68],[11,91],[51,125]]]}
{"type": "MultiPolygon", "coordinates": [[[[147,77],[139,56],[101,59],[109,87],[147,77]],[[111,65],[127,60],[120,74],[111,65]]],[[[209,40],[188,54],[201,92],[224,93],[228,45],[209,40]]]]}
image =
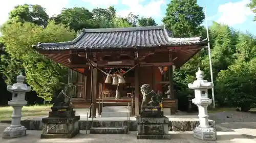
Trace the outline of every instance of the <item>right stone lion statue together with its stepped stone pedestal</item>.
{"type": "Polygon", "coordinates": [[[151,90],[150,85],[140,88],[143,95],[138,124],[137,139],[170,139],[168,133],[169,119],[163,116],[160,103],[162,97],[151,90]]]}

